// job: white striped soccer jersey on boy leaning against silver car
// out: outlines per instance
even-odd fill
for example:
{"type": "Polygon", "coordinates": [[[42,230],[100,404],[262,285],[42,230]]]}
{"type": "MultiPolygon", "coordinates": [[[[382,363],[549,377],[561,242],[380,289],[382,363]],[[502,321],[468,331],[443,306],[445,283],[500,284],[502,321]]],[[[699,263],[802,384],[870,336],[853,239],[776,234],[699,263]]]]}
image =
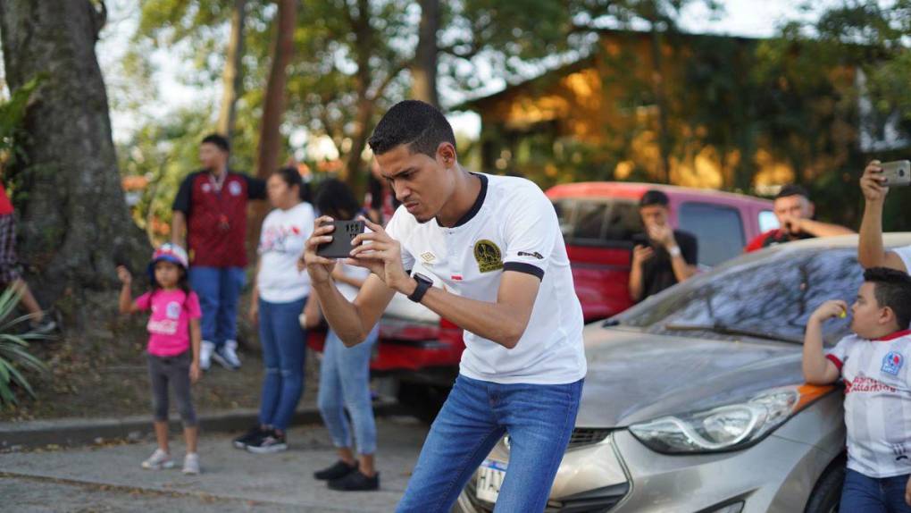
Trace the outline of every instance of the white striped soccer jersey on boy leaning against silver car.
{"type": "Polygon", "coordinates": [[[911,330],[844,337],[826,355],[844,379],[848,468],[867,477],[911,472],[911,330]]]}

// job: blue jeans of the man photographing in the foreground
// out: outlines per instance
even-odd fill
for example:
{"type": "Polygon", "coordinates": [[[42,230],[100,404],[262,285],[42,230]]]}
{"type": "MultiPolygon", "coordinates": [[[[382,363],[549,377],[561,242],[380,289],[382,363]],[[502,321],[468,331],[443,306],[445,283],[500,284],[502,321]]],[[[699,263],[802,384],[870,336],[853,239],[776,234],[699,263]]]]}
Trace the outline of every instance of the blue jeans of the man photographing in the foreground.
{"type": "Polygon", "coordinates": [[[582,380],[498,385],[459,374],[421,449],[396,511],[448,512],[501,436],[509,465],[496,511],[544,511],[576,424],[582,380]]]}

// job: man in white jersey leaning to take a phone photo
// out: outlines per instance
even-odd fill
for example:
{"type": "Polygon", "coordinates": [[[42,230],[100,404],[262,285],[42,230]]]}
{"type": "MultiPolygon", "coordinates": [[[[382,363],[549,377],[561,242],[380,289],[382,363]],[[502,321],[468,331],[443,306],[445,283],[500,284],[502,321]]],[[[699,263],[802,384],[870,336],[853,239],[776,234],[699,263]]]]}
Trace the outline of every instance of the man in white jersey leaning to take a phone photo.
{"type": "Polygon", "coordinates": [[[353,302],[332,286],[333,261],[316,255],[332,239],[326,218],[317,220],[304,260],[326,320],[358,344],[400,292],[465,329],[458,378],[397,510],[448,512],[508,434],[496,508],[543,511],[586,372],[557,214],[528,180],[463,169],[452,128],[423,102],[395,105],[369,142],[402,206],[385,230],[368,222],[373,233],[352,241],[347,262],[372,272],[353,302]],[[422,271],[411,275],[415,263],[422,271]]]}

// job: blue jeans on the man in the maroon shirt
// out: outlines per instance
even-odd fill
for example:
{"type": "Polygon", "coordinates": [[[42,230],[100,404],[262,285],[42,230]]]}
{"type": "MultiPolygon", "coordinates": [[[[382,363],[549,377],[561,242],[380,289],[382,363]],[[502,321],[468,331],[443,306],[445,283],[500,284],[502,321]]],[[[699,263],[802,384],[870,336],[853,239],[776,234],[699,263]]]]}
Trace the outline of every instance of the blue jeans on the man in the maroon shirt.
{"type": "Polygon", "coordinates": [[[237,302],[246,281],[242,267],[189,268],[189,284],[200,296],[202,340],[216,347],[237,340],[237,302]]]}

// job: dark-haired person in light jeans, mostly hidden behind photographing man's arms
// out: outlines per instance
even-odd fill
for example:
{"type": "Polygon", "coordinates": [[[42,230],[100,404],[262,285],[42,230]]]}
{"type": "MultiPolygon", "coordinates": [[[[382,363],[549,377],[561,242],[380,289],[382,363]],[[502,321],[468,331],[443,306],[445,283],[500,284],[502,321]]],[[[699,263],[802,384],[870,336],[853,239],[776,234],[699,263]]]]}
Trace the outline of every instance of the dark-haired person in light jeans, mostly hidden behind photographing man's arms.
{"type": "MultiPolygon", "coordinates": [[[[358,213],[364,213],[351,190],[339,180],[323,182],[315,203],[321,215],[335,220],[350,220],[358,213]]],[[[353,301],[368,276],[370,272],[366,269],[344,265],[342,261],[337,261],[333,270],[333,281],[348,301],[353,301]]],[[[321,317],[319,302],[307,303],[305,325],[311,328],[321,322],[321,317]]],[[[380,486],[380,475],[374,468],[376,423],[370,395],[370,357],[377,338],[379,324],[362,344],[353,347],[346,347],[332,330],[326,335],[317,402],[322,420],[338,449],[339,461],[316,472],[313,477],[328,481],[329,487],[336,490],[375,490],[380,486]],[[351,416],[350,423],[345,409],[351,416]],[[353,441],[357,443],[356,458],[353,441]]]]}

